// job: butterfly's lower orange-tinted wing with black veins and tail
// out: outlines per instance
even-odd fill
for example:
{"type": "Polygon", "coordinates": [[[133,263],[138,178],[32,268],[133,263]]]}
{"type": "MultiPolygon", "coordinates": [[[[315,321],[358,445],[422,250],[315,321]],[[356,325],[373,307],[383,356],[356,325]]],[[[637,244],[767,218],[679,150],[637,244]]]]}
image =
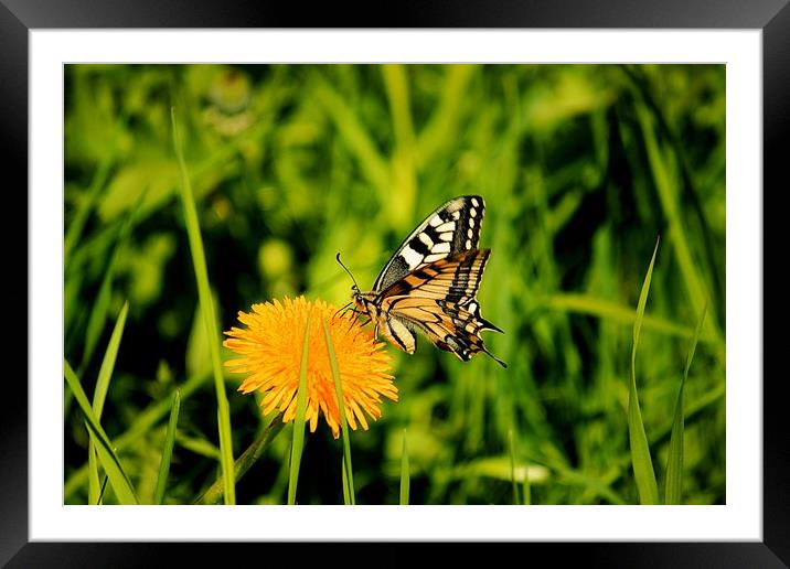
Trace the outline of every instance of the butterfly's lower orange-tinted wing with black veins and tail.
{"type": "MultiPolygon", "coordinates": [[[[480,315],[477,291],[482,280],[489,249],[456,253],[423,266],[391,284],[381,294],[381,313],[386,314],[382,333],[396,340],[404,351],[414,352],[412,330],[423,332],[437,347],[469,361],[484,352],[480,332],[499,328],[480,315]]],[[[396,343],[393,342],[393,343],[396,343]]]]}

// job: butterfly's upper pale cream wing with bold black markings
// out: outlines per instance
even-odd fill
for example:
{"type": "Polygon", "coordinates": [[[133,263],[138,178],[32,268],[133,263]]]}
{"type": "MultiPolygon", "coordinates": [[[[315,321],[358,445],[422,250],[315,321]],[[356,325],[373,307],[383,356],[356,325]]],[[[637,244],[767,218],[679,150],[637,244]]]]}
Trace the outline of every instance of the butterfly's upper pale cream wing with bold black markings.
{"type": "Polygon", "coordinates": [[[463,195],[434,211],[404,239],[373,284],[378,292],[410,272],[449,255],[477,249],[485,202],[479,195],[463,195]]]}

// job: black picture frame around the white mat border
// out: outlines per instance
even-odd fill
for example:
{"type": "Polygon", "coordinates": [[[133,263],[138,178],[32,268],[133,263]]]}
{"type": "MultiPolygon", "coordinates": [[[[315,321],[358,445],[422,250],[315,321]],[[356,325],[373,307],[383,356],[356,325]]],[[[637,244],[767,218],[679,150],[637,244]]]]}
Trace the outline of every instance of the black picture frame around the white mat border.
{"type": "MultiPolygon", "coordinates": [[[[781,195],[787,190],[783,162],[790,157],[790,0],[508,0],[488,3],[481,0],[430,3],[414,0],[397,4],[382,4],[371,12],[371,4],[317,4],[306,9],[296,3],[269,1],[188,1],[188,0],[0,0],[0,73],[2,106],[0,117],[0,161],[7,182],[4,202],[7,216],[28,218],[28,66],[29,32],[35,29],[90,28],[600,28],[600,29],[752,29],[762,32],[764,89],[764,189],[762,195],[781,195]],[[388,10],[387,10],[388,8],[388,10]],[[9,176],[11,174],[11,176],[9,176]],[[8,202],[15,197],[18,203],[8,202]],[[13,210],[11,210],[13,207],[13,210]],[[22,215],[21,212],[25,212],[22,215]]],[[[770,211],[765,210],[764,211],[770,211]]],[[[776,211],[776,210],[775,210],[776,211]]],[[[764,226],[765,227],[765,226],[764,226]]],[[[21,228],[2,224],[1,243],[19,243],[21,228]]],[[[765,229],[764,229],[765,232],[765,229]]],[[[26,234],[26,226],[25,226],[26,234]]],[[[764,246],[778,240],[766,238],[764,246]]],[[[9,308],[22,312],[26,322],[26,307],[35,302],[28,293],[28,247],[7,250],[6,266],[12,267],[7,278],[15,284],[7,296],[9,308]],[[22,269],[24,267],[24,270],[22,269]],[[22,279],[24,275],[24,279],[22,279]],[[25,298],[26,303],[21,299],[25,298]]],[[[764,259],[782,259],[764,255],[764,259]]],[[[781,266],[782,264],[775,264],[781,266]]],[[[765,278],[765,284],[770,279],[765,278]]],[[[776,281],[775,281],[776,282],[776,281]]],[[[765,296],[765,292],[764,292],[765,296]]],[[[20,337],[22,315],[13,318],[14,337],[20,337]]],[[[60,320],[53,318],[53,325],[60,320]]],[[[28,336],[24,353],[34,337],[28,336]]],[[[781,336],[781,335],[780,335],[781,336]]],[[[777,334],[764,334],[773,340],[777,334]]],[[[11,350],[7,359],[26,362],[22,350],[11,350]]],[[[765,353],[764,348],[764,353],[765,353]]],[[[771,351],[767,351],[771,353],[771,351]]],[[[773,351],[776,353],[776,351],[773,351]]],[[[779,352],[781,353],[781,352],[779,352]]],[[[167,544],[88,544],[29,543],[28,533],[28,376],[26,363],[17,377],[6,377],[3,411],[0,412],[0,563],[9,567],[137,567],[168,563],[174,552],[167,544]]],[[[764,503],[760,543],[605,543],[605,544],[521,544],[536,554],[552,556],[554,562],[583,556],[586,565],[605,567],[787,567],[790,563],[790,452],[787,441],[790,429],[786,420],[782,387],[783,375],[765,374],[764,389],[764,503]]],[[[56,379],[56,378],[54,378],[56,379]]],[[[759,378],[755,378],[759,379],[759,378]]],[[[215,544],[211,547],[182,544],[178,547],[180,561],[209,561],[212,556],[233,559],[246,555],[249,547],[266,548],[263,562],[271,563],[279,555],[287,556],[292,544],[215,544]]],[[[328,556],[332,546],[323,544],[314,552],[328,556]]],[[[377,563],[399,566],[412,562],[417,555],[414,544],[389,544],[377,554],[377,563]]],[[[468,555],[467,547],[456,544],[445,548],[445,562],[468,555]],[[449,556],[449,557],[448,557],[449,556]],[[460,556],[459,556],[460,557],[460,556]]],[[[300,554],[301,555],[301,554],[300,554]]],[[[502,554],[498,554],[502,555],[502,554]]],[[[504,554],[506,555],[506,554],[504,554]]],[[[523,554],[522,554],[523,555],[523,554]]]]}

